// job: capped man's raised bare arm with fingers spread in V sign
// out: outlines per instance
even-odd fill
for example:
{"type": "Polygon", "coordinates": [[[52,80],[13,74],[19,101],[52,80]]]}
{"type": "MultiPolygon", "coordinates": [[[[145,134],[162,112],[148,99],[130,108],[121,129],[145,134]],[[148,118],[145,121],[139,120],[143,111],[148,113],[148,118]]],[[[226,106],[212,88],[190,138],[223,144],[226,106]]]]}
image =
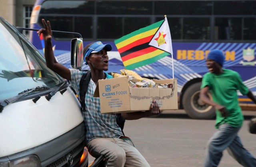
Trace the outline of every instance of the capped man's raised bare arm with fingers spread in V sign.
{"type": "Polygon", "coordinates": [[[71,72],[68,68],[63,66],[62,64],[58,63],[54,57],[54,53],[52,50],[52,29],[50,22],[47,21],[47,24],[44,19],[42,19],[44,24],[44,28],[38,31],[38,36],[43,34],[44,41],[45,41],[45,48],[44,48],[44,57],[46,60],[46,66],[62,76],[67,80],[71,80],[71,72]]]}

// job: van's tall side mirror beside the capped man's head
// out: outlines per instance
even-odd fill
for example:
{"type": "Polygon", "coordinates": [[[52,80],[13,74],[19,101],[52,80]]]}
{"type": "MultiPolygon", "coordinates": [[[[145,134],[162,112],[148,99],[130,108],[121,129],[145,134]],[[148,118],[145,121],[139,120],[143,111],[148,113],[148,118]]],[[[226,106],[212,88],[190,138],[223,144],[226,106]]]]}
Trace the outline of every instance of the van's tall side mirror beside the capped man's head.
{"type": "Polygon", "coordinates": [[[71,68],[81,70],[84,62],[83,49],[82,38],[74,38],[71,40],[71,68]]]}

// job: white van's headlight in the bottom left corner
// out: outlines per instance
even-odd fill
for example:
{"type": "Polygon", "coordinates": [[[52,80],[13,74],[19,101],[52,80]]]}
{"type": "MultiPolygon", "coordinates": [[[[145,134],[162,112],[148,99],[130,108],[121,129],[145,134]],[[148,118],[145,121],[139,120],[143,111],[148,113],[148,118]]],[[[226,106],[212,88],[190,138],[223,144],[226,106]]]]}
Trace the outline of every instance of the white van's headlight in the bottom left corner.
{"type": "Polygon", "coordinates": [[[13,161],[0,163],[0,167],[41,167],[37,156],[22,157],[13,161]]]}

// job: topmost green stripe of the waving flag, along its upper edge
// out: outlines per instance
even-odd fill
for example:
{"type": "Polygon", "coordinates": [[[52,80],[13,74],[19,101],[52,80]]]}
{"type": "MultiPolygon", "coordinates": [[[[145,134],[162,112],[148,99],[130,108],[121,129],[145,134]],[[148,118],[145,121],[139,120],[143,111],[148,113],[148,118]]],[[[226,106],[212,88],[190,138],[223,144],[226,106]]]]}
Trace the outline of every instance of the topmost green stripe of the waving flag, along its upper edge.
{"type": "Polygon", "coordinates": [[[164,20],[161,20],[159,22],[151,24],[150,26],[147,26],[147,27],[141,28],[139,30],[136,30],[136,31],[134,31],[134,32],[132,32],[130,34],[127,34],[127,35],[125,35],[125,36],[123,36],[123,37],[121,37],[121,38],[119,38],[117,40],[114,40],[114,42],[115,42],[115,44],[118,44],[119,42],[122,42],[123,40],[127,40],[128,38],[131,38],[132,36],[136,36],[136,35],[138,35],[140,33],[143,33],[143,32],[146,32],[148,30],[152,30],[154,28],[160,27],[163,22],[164,22],[164,20]]]}

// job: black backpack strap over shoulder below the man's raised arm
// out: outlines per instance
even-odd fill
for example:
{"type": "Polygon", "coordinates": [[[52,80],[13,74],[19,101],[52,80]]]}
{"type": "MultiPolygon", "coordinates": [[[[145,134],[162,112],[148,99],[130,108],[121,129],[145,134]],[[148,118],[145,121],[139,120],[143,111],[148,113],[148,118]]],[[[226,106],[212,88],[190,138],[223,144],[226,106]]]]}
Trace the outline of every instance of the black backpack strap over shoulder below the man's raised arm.
{"type": "Polygon", "coordinates": [[[86,73],[84,73],[81,77],[80,83],[79,83],[79,87],[80,87],[80,104],[81,104],[81,111],[85,112],[86,108],[85,108],[85,95],[90,83],[90,78],[91,78],[91,72],[88,71],[86,73]]]}

